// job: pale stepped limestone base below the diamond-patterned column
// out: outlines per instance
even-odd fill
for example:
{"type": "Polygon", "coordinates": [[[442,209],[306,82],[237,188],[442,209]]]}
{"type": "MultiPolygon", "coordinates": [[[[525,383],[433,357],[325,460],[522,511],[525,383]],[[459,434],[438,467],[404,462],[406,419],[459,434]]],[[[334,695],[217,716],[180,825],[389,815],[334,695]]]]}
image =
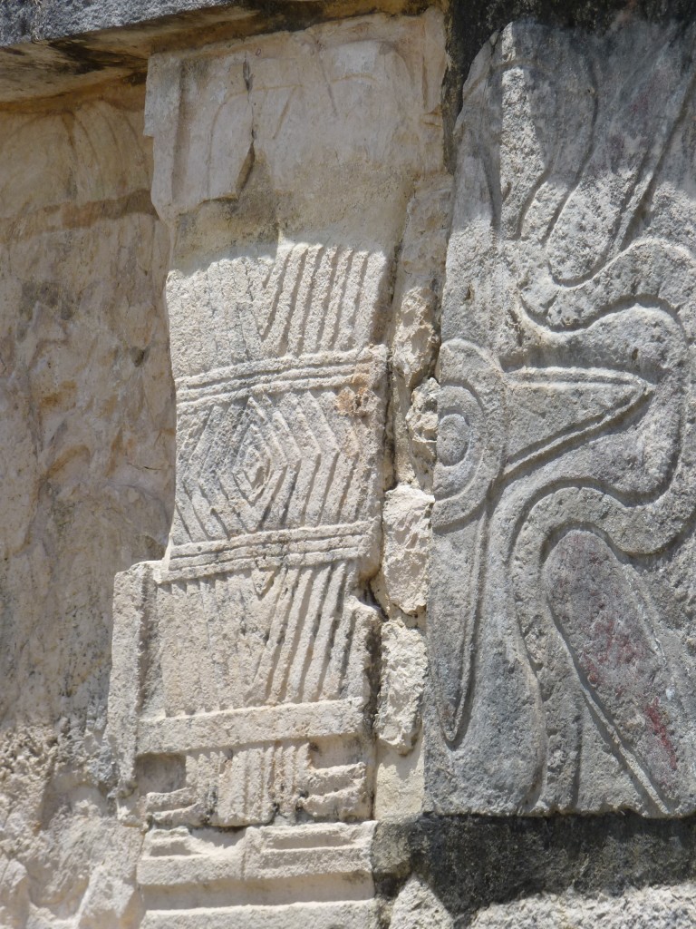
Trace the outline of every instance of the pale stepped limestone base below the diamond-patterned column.
{"type": "Polygon", "coordinates": [[[137,871],[150,927],[378,926],[374,825],[154,830],[137,871]]]}

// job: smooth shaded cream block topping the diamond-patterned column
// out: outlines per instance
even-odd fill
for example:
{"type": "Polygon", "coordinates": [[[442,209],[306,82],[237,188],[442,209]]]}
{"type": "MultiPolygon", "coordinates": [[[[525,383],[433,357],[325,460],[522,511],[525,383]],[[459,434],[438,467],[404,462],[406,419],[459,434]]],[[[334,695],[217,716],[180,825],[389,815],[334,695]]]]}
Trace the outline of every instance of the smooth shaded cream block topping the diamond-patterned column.
{"type": "MultiPolygon", "coordinates": [[[[441,128],[423,117],[439,109],[444,49],[442,17],[430,10],[414,20],[363,18],[153,56],[146,109],[153,203],[171,220],[205,201],[238,197],[258,162],[276,196],[303,201],[318,218],[329,177],[330,216],[343,198],[354,209],[366,169],[379,176],[374,190],[387,177],[395,188],[414,165],[436,171],[441,128]]],[[[360,202],[374,233],[379,214],[360,202]]]]}

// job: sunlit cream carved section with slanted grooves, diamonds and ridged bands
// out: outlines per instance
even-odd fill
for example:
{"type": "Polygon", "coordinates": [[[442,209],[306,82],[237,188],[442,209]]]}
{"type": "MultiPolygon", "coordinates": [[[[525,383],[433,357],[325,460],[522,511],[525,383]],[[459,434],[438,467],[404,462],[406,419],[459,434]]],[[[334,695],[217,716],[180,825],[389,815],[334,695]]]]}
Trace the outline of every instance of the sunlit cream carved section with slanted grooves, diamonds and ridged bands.
{"type": "MultiPolygon", "coordinates": [[[[248,255],[221,265],[205,293],[227,300],[255,272],[248,255]]],[[[302,243],[273,267],[252,291],[266,311],[238,305],[213,340],[241,326],[241,356],[176,382],[174,526],[135,607],[148,647],[122,803],[170,828],[369,814],[376,614],[354,591],[379,532],[386,352],[354,340],[387,263],[302,243]],[[300,344],[324,350],[283,354],[317,306],[300,344]]],[[[184,292],[170,282],[174,305],[184,292]]]]}

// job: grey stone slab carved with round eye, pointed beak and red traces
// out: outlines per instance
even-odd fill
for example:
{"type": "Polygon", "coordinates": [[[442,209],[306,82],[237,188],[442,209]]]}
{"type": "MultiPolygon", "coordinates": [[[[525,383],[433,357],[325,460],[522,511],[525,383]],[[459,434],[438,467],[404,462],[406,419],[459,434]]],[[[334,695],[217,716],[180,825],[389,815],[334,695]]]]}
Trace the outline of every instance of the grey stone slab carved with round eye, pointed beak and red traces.
{"type": "Polygon", "coordinates": [[[693,33],[510,26],[460,116],[429,803],[696,805],[693,33]]]}

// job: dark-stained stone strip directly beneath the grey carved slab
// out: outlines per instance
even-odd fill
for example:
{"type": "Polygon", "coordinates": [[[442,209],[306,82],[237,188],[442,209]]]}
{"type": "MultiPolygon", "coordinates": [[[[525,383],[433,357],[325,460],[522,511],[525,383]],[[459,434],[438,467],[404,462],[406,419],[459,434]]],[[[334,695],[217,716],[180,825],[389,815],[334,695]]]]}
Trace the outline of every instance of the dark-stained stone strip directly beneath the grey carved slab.
{"type": "Polygon", "coordinates": [[[420,816],[378,823],[372,870],[384,911],[414,874],[464,927],[479,910],[514,912],[516,901],[534,907],[544,896],[577,895],[589,905],[635,889],[646,900],[656,887],[678,894],[696,879],[695,840],[692,817],[420,816]]]}

